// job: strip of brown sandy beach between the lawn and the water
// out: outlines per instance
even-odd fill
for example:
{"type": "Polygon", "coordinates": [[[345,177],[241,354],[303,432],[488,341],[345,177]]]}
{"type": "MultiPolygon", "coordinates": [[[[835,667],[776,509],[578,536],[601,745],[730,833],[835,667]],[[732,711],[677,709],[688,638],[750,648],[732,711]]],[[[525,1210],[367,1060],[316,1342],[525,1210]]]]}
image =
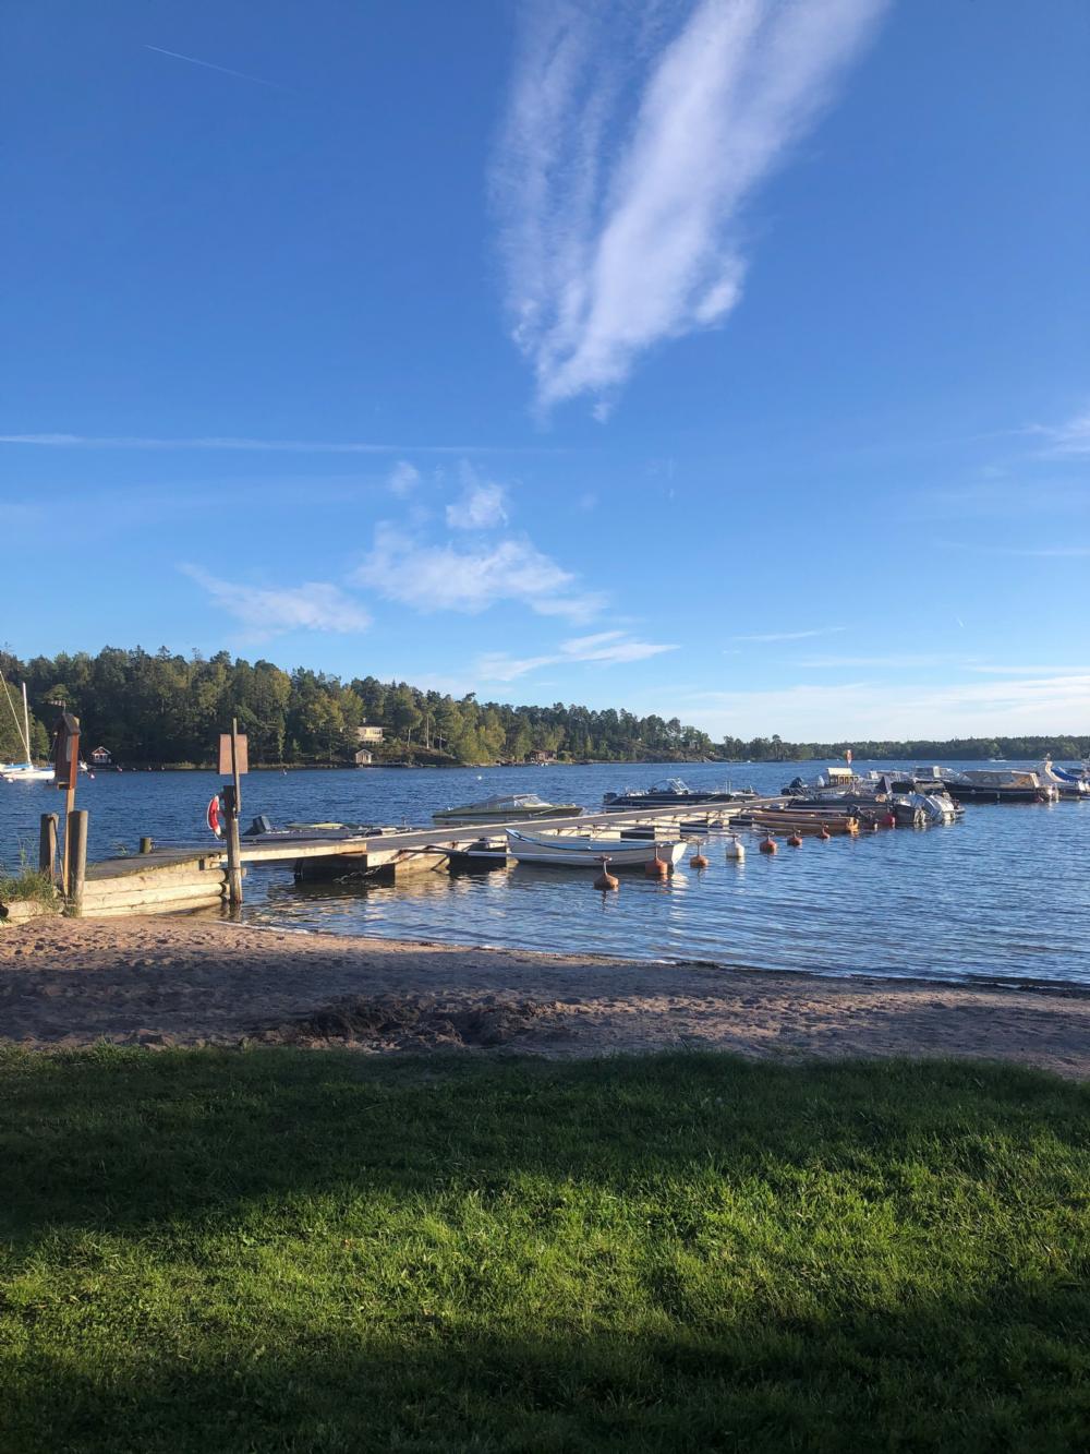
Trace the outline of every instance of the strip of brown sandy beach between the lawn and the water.
{"type": "Polygon", "coordinates": [[[1090,992],[279,933],[198,919],[0,931],[0,1041],[504,1045],[590,1056],[982,1056],[1090,1075],[1090,992]]]}

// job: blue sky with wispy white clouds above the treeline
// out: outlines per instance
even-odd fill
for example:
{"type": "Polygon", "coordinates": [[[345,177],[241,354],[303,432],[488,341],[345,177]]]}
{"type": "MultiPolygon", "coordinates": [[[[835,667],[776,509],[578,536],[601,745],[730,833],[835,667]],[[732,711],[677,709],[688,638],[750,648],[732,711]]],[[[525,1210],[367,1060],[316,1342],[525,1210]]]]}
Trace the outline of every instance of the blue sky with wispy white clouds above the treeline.
{"type": "Polygon", "coordinates": [[[1087,730],[1083,0],[4,32],[17,653],[1087,730]]]}

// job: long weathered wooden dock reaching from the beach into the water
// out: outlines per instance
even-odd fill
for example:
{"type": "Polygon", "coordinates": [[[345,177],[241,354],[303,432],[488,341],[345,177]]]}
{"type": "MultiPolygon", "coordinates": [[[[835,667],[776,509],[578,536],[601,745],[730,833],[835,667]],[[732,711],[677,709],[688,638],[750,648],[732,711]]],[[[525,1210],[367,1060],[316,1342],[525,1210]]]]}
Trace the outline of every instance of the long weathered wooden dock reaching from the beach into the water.
{"type": "MultiPolygon", "coordinates": [[[[764,801],[764,800],[762,800],[764,801]]],[[[769,800],[772,801],[772,800],[769,800]]],[[[711,832],[727,826],[748,803],[693,804],[613,813],[587,813],[568,819],[530,819],[517,823],[474,823],[468,827],[413,827],[404,832],[334,838],[331,835],[243,838],[243,865],[291,864],[296,880],[376,878],[400,883],[424,872],[451,868],[501,867],[507,862],[506,829],[577,835],[592,829],[602,836],[642,829],[647,836],[680,836],[680,824],[705,823],[711,832]],[[484,845],[488,845],[487,848],[484,845]],[[478,846],[480,845],[480,846],[478,846]],[[474,852],[474,849],[477,849],[474,852]]],[[[224,845],[153,849],[89,864],[71,912],[83,917],[132,913],[179,913],[227,904],[228,874],[224,845]]]]}

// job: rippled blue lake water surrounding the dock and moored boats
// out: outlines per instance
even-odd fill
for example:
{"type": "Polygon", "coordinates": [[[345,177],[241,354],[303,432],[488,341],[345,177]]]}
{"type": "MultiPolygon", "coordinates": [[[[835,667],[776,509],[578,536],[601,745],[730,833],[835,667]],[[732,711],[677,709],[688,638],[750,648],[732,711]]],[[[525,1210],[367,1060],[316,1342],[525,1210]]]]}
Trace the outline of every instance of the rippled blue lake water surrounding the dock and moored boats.
{"type": "MultiPolygon", "coordinates": [[[[869,763],[857,763],[866,771],[869,763]]],[[[875,765],[888,768],[889,763],[875,765]]],[[[911,766],[910,763],[904,766],[911,766]]],[[[968,765],[971,766],[971,765],[968,765]]],[[[602,794],[671,774],[690,787],[776,792],[820,765],[363,769],[254,772],[243,819],[426,824],[433,810],[535,791],[596,808],[602,794]]],[[[205,772],[97,774],[80,782],[90,855],[135,852],[141,833],[166,846],[212,842],[205,806],[221,779],[205,772]]],[[[62,797],[41,784],[0,784],[0,862],[25,845],[36,862],[38,817],[62,797]]],[[[394,887],[298,885],[291,865],[251,869],[243,919],[330,933],[494,944],[529,949],[715,960],[769,970],[934,979],[1065,980],[1090,984],[1090,804],[968,804],[946,829],[807,839],[744,864],[708,839],[711,867],[685,864],[667,884],[625,874],[615,894],[589,872],[421,875],[394,887]]]]}

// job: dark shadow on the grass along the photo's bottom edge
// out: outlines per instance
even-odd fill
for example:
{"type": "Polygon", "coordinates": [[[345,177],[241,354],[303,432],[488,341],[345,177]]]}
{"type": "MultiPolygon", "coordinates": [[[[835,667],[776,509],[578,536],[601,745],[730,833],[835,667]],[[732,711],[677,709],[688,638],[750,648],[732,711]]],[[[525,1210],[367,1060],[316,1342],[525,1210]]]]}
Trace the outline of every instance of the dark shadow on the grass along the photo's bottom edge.
{"type": "MultiPolygon", "coordinates": [[[[702,1329],[484,1333],[421,1317],[384,1341],[209,1329],[203,1357],[140,1342],[84,1364],[25,1355],[0,1435],[20,1451],[1086,1450],[1086,1303],[994,1300],[702,1329]]],[[[0,1364],[1,1367],[1,1364],[0,1364]]]]}

